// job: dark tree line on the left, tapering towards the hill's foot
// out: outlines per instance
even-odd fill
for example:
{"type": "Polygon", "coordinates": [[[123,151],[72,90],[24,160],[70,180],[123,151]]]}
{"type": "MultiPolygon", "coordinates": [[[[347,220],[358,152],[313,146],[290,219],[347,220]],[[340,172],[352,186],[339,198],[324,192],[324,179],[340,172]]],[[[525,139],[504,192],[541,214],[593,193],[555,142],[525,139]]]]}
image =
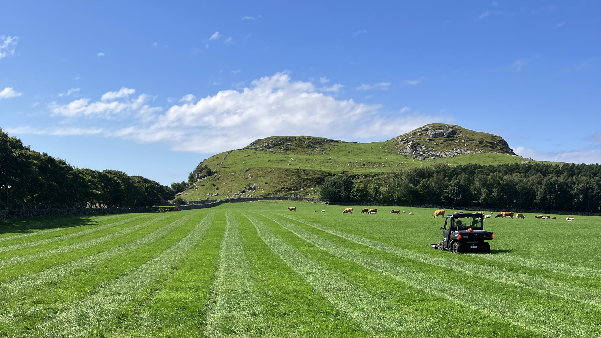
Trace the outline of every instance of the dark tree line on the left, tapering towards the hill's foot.
{"type": "MultiPolygon", "coordinates": [[[[183,185],[183,186],[182,186],[183,185]]],[[[0,208],[143,208],[172,199],[172,187],[121,171],[79,169],[24,146],[0,128],[0,208]]]]}

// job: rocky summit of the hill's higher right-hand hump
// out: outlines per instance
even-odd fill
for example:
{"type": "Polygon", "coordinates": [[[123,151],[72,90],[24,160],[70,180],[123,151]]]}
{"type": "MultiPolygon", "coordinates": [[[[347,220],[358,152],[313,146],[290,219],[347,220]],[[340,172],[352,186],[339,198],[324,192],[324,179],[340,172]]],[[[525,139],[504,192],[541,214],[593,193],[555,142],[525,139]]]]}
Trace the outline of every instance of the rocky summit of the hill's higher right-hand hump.
{"type": "Polygon", "coordinates": [[[419,160],[483,152],[515,155],[501,137],[459,125],[428,124],[392,140],[398,154],[419,160]]]}

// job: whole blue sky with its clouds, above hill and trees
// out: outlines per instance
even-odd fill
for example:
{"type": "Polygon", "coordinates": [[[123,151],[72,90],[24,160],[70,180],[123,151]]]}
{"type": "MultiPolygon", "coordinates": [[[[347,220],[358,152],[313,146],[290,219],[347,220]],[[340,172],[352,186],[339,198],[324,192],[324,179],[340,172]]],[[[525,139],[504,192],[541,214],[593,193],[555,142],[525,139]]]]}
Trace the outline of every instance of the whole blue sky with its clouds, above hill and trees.
{"type": "Polygon", "coordinates": [[[599,1],[0,1],[0,127],[169,184],[272,135],[430,122],[601,163],[599,1]]]}

